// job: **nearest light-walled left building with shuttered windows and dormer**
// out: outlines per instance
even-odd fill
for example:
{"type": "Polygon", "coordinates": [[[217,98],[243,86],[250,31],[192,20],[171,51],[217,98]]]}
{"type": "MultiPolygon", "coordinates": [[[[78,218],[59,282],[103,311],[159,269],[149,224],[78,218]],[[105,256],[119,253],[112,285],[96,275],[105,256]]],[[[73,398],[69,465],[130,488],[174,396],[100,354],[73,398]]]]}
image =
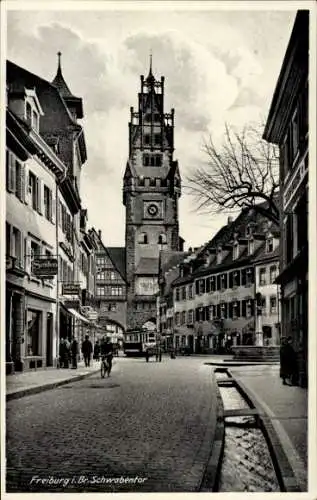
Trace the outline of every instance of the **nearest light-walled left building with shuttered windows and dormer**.
{"type": "Polygon", "coordinates": [[[48,270],[48,276],[39,275],[35,262],[56,258],[56,186],[67,169],[41,134],[47,116],[34,82],[24,81],[17,66],[8,64],[7,70],[6,363],[10,372],[52,366],[57,355],[56,279],[48,270]]]}

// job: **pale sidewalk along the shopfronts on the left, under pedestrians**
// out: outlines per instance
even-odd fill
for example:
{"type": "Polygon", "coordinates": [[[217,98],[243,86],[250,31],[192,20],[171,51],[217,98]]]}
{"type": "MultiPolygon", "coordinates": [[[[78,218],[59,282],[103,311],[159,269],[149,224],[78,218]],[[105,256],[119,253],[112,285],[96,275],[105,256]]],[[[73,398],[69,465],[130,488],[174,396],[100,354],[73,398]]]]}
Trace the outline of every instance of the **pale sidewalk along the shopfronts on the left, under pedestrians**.
{"type": "Polygon", "coordinates": [[[80,361],[77,370],[71,368],[47,368],[7,375],[6,400],[22,398],[82,380],[99,371],[99,368],[99,362],[93,361],[90,367],[86,368],[84,362],[80,361]]]}

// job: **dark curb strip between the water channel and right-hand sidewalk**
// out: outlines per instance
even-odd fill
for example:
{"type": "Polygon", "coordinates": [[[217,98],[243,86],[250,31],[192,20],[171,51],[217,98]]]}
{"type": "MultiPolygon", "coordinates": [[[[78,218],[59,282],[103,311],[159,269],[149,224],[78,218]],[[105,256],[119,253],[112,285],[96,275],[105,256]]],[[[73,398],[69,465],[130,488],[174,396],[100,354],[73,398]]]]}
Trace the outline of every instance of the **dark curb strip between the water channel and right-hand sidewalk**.
{"type": "Polygon", "coordinates": [[[234,380],[238,391],[246,399],[248,404],[251,403],[252,407],[258,410],[259,427],[262,430],[267,442],[281,492],[302,492],[303,490],[298,484],[281,440],[272,425],[270,417],[266,414],[261,404],[255,400],[253,395],[250,394],[244,383],[237,380],[231,373],[230,376],[234,380]]]}

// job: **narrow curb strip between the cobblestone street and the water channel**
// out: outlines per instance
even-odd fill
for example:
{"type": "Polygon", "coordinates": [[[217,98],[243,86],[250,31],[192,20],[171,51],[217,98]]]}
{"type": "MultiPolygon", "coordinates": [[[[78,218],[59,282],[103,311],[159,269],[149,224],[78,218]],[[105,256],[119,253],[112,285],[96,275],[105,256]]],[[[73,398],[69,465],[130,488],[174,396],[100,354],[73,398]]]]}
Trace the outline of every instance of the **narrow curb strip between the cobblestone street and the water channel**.
{"type": "Polygon", "coordinates": [[[216,376],[212,372],[213,387],[216,389],[217,398],[217,422],[215,428],[214,439],[211,448],[211,454],[207,462],[205,472],[200,484],[200,492],[217,492],[221,463],[224,452],[225,443],[225,424],[224,424],[224,406],[222,397],[218,388],[216,376]]]}

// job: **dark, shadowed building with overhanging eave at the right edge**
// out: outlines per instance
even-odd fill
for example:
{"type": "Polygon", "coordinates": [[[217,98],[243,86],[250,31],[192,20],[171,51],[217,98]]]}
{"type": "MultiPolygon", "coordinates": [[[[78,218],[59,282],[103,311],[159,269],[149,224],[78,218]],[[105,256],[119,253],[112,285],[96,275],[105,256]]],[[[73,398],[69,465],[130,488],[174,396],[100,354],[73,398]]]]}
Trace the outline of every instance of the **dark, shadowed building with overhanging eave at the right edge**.
{"type": "Polygon", "coordinates": [[[275,88],[264,139],[279,146],[282,335],[298,352],[307,385],[309,11],[298,11],[275,88]]]}

